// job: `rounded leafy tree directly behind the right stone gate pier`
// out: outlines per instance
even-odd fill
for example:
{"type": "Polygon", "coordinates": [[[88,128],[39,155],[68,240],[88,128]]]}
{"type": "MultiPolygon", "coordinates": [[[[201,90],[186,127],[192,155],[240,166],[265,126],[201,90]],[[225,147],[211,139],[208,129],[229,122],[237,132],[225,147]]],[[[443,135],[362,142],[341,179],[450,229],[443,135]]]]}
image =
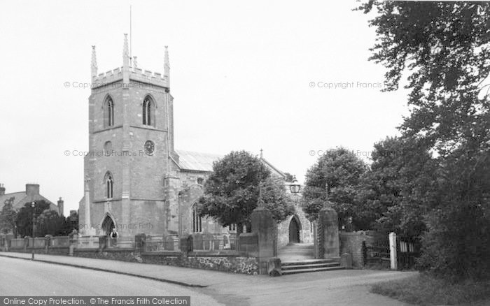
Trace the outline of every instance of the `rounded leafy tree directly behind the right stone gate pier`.
{"type": "Polygon", "coordinates": [[[303,209],[309,218],[331,205],[339,215],[339,225],[353,218],[356,227],[364,228],[365,220],[354,203],[356,187],[367,170],[366,164],[353,152],[340,147],[330,149],[309,168],[303,189],[303,209]]]}

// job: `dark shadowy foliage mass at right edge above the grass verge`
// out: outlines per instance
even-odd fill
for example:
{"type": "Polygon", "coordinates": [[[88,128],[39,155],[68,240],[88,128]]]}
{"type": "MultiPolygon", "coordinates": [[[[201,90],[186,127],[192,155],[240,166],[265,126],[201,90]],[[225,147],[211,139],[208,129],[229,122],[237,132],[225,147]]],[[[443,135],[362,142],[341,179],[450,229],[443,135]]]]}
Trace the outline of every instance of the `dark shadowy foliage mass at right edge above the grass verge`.
{"type": "Polygon", "coordinates": [[[475,156],[461,148],[448,156],[441,176],[420,268],[454,279],[490,279],[490,152],[475,156]]]}

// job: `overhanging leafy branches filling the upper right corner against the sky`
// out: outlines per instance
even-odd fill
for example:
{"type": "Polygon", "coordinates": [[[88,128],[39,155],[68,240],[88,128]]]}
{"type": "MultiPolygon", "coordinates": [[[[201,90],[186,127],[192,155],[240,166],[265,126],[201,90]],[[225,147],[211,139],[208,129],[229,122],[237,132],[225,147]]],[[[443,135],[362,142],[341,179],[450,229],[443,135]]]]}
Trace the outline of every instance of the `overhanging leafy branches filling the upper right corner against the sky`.
{"type": "Polygon", "coordinates": [[[368,1],[377,39],[371,60],[388,68],[386,90],[398,89],[403,73],[411,89],[411,115],[402,131],[419,133],[440,154],[462,143],[490,145],[490,3],[368,1]]]}

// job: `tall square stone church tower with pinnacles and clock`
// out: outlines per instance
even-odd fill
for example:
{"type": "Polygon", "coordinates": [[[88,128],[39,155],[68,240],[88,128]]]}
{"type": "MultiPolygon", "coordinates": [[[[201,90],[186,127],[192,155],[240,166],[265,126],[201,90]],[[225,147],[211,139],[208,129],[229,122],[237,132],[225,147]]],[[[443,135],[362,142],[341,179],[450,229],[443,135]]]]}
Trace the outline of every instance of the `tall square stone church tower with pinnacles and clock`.
{"type": "Polygon", "coordinates": [[[167,47],[163,58],[163,75],[137,67],[125,34],[123,66],[97,74],[92,46],[89,154],[80,201],[85,235],[106,235],[113,227],[125,236],[177,231],[176,208],[169,201],[170,173],[179,156],[167,47]]]}

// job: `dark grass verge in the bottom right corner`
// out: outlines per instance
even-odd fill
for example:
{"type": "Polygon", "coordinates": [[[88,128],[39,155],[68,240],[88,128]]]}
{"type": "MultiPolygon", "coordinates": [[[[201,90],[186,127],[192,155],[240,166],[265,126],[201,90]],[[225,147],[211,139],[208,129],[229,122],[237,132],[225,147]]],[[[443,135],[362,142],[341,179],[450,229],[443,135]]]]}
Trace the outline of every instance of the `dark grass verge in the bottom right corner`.
{"type": "Polygon", "coordinates": [[[453,283],[419,274],[374,284],[371,292],[416,305],[490,305],[490,281],[453,283]]]}

